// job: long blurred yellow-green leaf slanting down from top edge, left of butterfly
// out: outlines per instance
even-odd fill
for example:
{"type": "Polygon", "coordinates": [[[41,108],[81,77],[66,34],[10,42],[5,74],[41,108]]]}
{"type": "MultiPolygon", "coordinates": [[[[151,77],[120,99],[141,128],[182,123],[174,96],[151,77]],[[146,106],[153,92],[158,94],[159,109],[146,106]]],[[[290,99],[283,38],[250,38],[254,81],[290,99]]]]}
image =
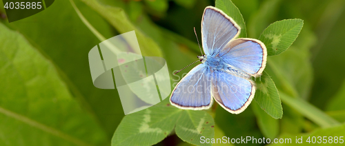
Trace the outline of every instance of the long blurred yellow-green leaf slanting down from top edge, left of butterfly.
{"type": "Polygon", "coordinates": [[[95,0],[81,0],[93,10],[98,12],[104,19],[106,19],[112,26],[114,26],[120,33],[130,32],[135,30],[141,53],[144,56],[162,56],[161,50],[155,41],[146,36],[141,30],[135,27],[122,8],[105,6],[95,0]]]}

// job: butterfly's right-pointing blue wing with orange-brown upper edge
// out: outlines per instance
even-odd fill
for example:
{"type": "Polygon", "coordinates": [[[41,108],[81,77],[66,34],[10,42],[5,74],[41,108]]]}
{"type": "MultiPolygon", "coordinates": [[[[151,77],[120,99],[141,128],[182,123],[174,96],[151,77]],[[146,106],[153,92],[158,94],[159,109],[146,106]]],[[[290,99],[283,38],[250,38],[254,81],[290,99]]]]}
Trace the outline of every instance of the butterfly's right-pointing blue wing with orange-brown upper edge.
{"type": "Polygon", "coordinates": [[[219,52],[219,56],[229,65],[256,77],[266,67],[267,50],[257,39],[234,39],[219,52]]]}

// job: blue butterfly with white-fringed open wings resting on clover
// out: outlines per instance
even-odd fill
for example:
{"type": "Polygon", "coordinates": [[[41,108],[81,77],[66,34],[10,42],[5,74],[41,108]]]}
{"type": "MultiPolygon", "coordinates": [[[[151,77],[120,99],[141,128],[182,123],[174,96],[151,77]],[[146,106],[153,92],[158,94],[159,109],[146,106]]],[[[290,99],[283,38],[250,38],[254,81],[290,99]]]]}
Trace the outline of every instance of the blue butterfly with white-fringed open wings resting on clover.
{"type": "Polygon", "coordinates": [[[175,86],[170,103],[184,110],[206,110],[213,98],[226,111],[239,114],[246,110],[255,94],[250,79],[262,74],[267,50],[257,39],[236,39],[241,28],[223,11],[213,6],[204,10],[201,41],[204,54],[175,86]]]}

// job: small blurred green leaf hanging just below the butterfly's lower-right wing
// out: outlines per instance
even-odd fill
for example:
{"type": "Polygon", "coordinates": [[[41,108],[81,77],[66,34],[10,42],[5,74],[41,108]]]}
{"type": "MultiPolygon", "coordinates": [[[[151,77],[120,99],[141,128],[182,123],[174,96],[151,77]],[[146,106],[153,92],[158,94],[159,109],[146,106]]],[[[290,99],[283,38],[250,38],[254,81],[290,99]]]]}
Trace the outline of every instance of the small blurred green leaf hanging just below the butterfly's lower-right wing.
{"type": "Polygon", "coordinates": [[[266,114],[257,103],[252,103],[252,107],[262,134],[267,138],[275,138],[279,134],[279,121],[266,114]]]}

